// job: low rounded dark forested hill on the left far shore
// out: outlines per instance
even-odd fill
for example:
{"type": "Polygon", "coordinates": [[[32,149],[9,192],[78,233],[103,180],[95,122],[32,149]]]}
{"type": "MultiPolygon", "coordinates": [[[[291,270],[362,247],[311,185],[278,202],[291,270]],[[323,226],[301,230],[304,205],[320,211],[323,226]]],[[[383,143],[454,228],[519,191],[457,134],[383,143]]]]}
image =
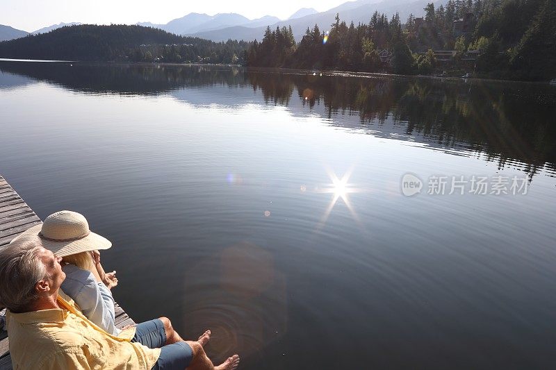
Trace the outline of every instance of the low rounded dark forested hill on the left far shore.
{"type": "Polygon", "coordinates": [[[247,47],[243,41],[213,42],[144,26],[83,24],[0,42],[0,58],[236,63],[247,47]]]}

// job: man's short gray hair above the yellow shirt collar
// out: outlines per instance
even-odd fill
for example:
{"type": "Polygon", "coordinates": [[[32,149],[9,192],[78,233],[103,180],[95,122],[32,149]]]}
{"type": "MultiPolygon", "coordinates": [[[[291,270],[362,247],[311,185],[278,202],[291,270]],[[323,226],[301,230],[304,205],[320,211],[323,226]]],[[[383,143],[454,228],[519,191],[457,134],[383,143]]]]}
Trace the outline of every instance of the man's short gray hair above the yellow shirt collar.
{"type": "Polygon", "coordinates": [[[35,285],[48,277],[41,250],[38,237],[20,238],[0,247],[0,302],[11,312],[25,312],[40,297],[35,285]]]}

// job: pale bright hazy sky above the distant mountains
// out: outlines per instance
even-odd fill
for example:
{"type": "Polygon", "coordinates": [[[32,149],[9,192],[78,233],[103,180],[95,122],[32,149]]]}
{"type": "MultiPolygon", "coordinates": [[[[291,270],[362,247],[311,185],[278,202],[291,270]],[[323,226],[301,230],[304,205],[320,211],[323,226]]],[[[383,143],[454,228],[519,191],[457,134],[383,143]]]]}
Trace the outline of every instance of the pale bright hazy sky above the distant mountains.
{"type": "Polygon", "coordinates": [[[278,1],[177,1],[177,0],[1,0],[0,24],[23,31],[35,31],[60,22],[96,24],[153,22],[165,24],[190,12],[215,15],[236,12],[249,19],[274,15],[286,19],[299,8],[319,12],[347,0],[278,1]]]}

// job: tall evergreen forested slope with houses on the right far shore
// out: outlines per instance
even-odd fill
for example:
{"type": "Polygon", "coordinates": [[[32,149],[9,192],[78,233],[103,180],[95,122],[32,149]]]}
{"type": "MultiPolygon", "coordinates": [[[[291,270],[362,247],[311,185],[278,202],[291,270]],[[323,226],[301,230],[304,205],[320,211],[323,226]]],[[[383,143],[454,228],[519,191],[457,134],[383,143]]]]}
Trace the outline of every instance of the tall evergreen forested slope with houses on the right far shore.
{"type": "Polygon", "coordinates": [[[402,23],[375,12],[367,24],[336,22],[267,31],[247,51],[247,65],[400,74],[471,73],[523,80],[556,78],[556,1],[450,0],[402,23]]]}

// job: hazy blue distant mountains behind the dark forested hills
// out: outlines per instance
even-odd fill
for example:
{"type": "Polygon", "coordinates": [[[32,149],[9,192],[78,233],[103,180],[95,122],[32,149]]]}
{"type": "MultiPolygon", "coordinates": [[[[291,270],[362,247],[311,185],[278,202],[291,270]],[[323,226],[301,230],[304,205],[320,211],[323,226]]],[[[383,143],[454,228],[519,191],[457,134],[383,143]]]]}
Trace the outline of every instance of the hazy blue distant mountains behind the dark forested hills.
{"type": "MultiPolygon", "coordinates": [[[[248,19],[237,13],[219,13],[217,15],[206,15],[192,12],[180,18],[172,19],[167,24],[153,24],[151,22],[138,22],[139,26],[149,26],[160,28],[164,31],[177,35],[187,35],[201,37],[216,42],[231,40],[261,40],[267,26],[274,29],[276,27],[291,26],[295,40],[299,41],[303,37],[306,28],[313,28],[318,25],[321,31],[326,31],[334,23],[336,13],[340,19],[350,24],[368,23],[375,11],[384,13],[391,17],[396,12],[399,13],[402,23],[405,22],[409,14],[416,17],[424,14],[423,8],[431,0],[356,0],[347,1],[340,6],[336,6],[325,12],[317,12],[313,8],[301,8],[293,13],[288,19],[280,20],[277,17],[265,15],[258,19],[248,19]]],[[[447,0],[434,1],[435,7],[447,0]]],[[[47,33],[62,26],[71,26],[79,23],[60,23],[52,26],[40,28],[33,31],[33,34],[47,33]]],[[[11,40],[13,38],[28,35],[26,31],[16,30],[9,26],[0,25],[0,41],[11,40]]]]}

